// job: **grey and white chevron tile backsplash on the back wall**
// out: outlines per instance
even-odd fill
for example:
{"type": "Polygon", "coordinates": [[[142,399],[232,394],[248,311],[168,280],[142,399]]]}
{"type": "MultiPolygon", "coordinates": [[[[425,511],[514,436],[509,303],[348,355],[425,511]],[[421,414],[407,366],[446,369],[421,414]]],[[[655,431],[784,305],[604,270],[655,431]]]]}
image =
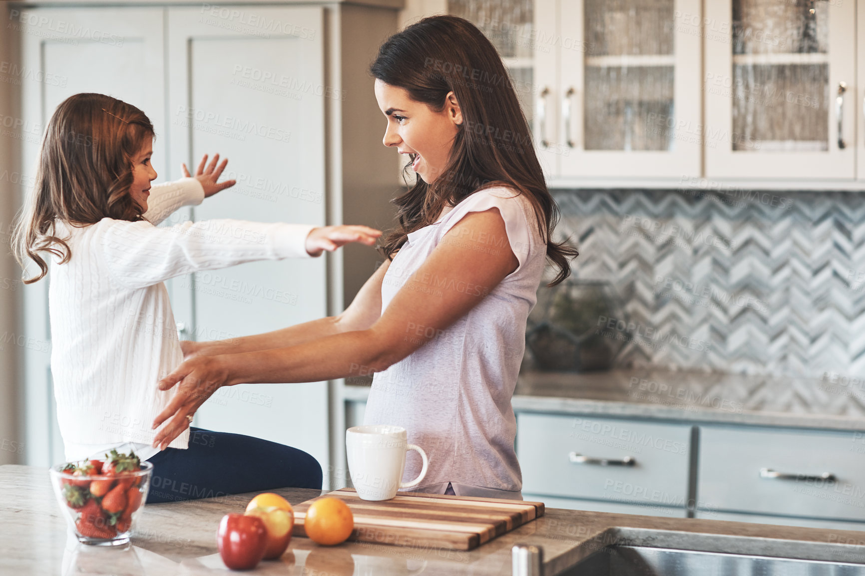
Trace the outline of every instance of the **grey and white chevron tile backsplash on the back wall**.
{"type": "Polygon", "coordinates": [[[865,194],[554,197],[580,249],[574,278],[610,282],[624,304],[616,366],[865,374],[865,194]]]}

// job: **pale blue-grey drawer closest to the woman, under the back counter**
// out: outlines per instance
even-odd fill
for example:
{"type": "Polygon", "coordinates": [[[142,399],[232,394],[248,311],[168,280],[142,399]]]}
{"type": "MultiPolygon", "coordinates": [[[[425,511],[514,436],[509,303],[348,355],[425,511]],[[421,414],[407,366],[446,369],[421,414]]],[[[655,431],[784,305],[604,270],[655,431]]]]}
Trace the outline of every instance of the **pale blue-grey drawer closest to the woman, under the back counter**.
{"type": "Polygon", "coordinates": [[[690,426],[521,413],[516,451],[522,491],[684,507],[690,426]],[[573,462],[571,454],[591,458],[573,462]],[[632,465],[600,465],[597,460],[632,465]]]}

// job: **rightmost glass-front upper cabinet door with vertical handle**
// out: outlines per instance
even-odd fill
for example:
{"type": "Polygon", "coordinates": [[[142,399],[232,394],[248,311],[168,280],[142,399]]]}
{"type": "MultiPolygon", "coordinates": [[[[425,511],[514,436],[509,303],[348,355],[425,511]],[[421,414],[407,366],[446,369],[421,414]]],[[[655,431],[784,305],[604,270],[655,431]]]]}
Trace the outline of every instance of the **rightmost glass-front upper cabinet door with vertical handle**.
{"type": "Polygon", "coordinates": [[[706,175],[855,176],[855,3],[706,3],[706,175]]]}

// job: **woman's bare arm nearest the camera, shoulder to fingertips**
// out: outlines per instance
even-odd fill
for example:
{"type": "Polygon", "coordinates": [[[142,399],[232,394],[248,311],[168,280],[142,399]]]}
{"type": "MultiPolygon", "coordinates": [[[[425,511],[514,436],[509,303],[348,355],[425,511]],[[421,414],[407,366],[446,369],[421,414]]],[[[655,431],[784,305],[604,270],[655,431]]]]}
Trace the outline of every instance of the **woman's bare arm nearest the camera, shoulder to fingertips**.
{"type": "MultiPolygon", "coordinates": [[[[475,239],[506,238],[497,208],[465,215],[394,296],[387,310],[366,329],[242,354],[196,356],[159,382],[178,385],[169,406],[157,416],[162,425],[153,445],[164,447],[189,426],[187,414],[219,387],[243,382],[314,382],[371,374],[434,342],[519,266],[510,246],[474,246],[475,239]],[[477,249],[482,248],[482,249],[477,249]]],[[[380,300],[381,302],[381,300],[380,300]]]]}

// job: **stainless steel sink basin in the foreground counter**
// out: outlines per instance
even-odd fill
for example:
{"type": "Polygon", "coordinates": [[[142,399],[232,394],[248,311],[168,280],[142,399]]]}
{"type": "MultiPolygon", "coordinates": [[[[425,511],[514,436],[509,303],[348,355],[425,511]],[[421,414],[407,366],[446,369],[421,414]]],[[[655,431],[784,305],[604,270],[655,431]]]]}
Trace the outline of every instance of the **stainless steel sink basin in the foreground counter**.
{"type": "Polygon", "coordinates": [[[561,576],[865,576],[865,565],[748,554],[613,545],[561,576]]]}

